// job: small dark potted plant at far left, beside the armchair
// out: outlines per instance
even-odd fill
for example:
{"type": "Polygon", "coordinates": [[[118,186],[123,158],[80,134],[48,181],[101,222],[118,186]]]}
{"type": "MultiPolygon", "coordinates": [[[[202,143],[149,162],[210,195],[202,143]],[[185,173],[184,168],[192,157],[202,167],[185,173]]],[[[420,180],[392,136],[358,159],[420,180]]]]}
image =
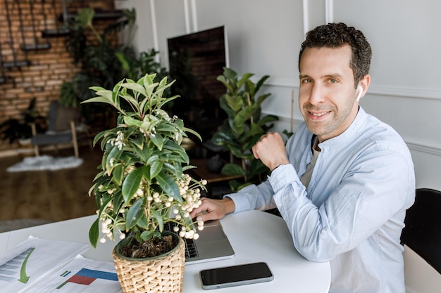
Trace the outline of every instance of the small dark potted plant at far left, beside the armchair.
{"type": "Polygon", "coordinates": [[[10,118],[0,124],[1,139],[10,144],[18,143],[17,152],[20,155],[34,153],[30,138],[32,137],[32,126],[35,124],[37,132],[44,129],[46,118],[35,109],[36,98],[30,100],[27,108],[21,112],[21,118],[10,118]]]}

